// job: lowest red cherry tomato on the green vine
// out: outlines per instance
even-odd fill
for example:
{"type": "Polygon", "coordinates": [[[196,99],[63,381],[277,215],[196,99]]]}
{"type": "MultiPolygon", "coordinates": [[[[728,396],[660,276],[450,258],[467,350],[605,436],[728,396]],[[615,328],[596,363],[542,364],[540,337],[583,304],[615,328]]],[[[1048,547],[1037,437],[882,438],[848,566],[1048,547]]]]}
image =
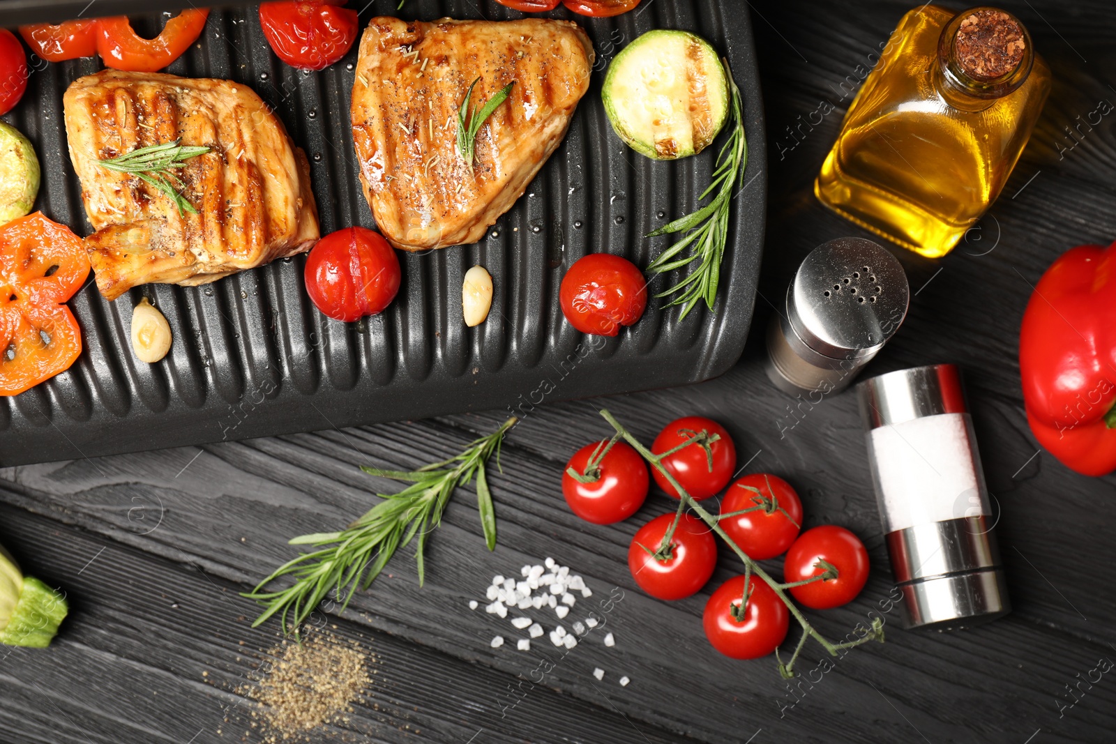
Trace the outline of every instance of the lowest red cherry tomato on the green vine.
{"type": "Polygon", "coordinates": [[[729,579],[705,602],[702,625],[713,648],[733,659],[767,656],[787,637],[790,612],[787,605],[762,579],[748,583],[750,597],[743,603],[744,577],[729,579]]]}

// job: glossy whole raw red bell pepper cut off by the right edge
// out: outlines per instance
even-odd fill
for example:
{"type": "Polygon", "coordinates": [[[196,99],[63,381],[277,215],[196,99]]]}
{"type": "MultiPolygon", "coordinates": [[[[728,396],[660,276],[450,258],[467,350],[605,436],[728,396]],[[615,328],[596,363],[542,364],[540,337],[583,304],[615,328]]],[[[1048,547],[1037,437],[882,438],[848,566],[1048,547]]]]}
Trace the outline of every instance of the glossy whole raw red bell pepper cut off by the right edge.
{"type": "Polygon", "coordinates": [[[1067,467],[1116,468],[1116,243],[1078,245],[1035,288],[1019,332],[1027,421],[1067,467]]]}

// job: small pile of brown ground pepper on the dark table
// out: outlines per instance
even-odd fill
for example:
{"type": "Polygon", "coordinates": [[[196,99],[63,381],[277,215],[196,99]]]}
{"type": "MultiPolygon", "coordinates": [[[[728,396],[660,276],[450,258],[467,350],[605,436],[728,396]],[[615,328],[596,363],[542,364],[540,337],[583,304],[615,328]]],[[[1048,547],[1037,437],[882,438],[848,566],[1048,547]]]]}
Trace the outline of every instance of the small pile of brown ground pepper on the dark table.
{"type": "Polygon", "coordinates": [[[357,641],[327,630],[302,634],[268,651],[257,679],[237,692],[256,702],[252,728],[266,744],[319,738],[330,725],[348,723],[353,705],[371,684],[368,656],[357,641]]]}

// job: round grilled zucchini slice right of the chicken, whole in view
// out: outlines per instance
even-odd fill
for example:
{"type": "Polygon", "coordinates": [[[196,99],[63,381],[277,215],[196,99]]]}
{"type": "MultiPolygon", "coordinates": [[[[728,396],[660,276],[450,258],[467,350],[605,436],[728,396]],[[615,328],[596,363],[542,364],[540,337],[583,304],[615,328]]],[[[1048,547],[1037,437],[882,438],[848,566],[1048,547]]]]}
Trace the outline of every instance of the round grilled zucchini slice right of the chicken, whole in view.
{"type": "Polygon", "coordinates": [[[608,66],[602,90],[613,129],[658,161],[696,155],[729,116],[729,81],[712,46],[689,31],[647,31],[608,66]]]}

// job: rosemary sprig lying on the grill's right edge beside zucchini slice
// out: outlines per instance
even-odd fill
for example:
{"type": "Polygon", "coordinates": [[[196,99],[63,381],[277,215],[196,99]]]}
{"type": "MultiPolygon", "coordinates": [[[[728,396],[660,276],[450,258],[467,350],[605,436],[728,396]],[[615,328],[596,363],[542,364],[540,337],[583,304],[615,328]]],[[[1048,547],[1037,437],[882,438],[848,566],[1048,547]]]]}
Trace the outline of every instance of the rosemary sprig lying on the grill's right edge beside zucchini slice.
{"type": "MultiPolygon", "coordinates": [[[[732,70],[728,60],[723,60],[724,74],[729,78],[732,110],[732,134],[721,147],[716,157],[716,170],[713,180],[700,199],[705,199],[714,191],[716,195],[705,206],[665,224],[647,238],[666,235],[675,232],[692,231],[685,238],[667,248],[651,262],[647,270],[653,273],[665,273],[680,269],[693,261],[700,261],[698,268],[674,287],[660,292],[657,297],[677,294],[667,303],[682,306],[682,318],[685,318],[701,300],[710,310],[716,300],[716,287],[721,279],[721,260],[729,242],[729,207],[732,203],[732,190],[748,165],[748,142],[744,137],[744,109],[740,98],[740,88],[732,79],[732,70]],[[687,255],[676,258],[687,245],[694,244],[687,255]]],[[[681,319],[681,318],[680,318],[681,319]]]]}

